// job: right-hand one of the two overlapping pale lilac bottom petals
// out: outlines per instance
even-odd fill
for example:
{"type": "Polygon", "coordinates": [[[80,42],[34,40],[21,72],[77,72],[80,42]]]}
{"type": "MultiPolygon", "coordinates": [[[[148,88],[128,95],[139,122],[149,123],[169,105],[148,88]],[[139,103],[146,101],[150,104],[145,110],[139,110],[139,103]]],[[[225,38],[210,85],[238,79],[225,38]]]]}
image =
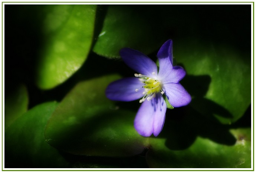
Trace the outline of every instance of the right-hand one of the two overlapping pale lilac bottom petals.
{"type": "Polygon", "coordinates": [[[165,120],[165,113],[166,113],[167,106],[161,94],[158,95],[158,99],[155,104],[157,107],[157,111],[155,112],[155,116],[154,116],[153,133],[154,133],[154,136],[158,136],[158,134],[162,131],[164,127],[164,120],[165,120]]]}

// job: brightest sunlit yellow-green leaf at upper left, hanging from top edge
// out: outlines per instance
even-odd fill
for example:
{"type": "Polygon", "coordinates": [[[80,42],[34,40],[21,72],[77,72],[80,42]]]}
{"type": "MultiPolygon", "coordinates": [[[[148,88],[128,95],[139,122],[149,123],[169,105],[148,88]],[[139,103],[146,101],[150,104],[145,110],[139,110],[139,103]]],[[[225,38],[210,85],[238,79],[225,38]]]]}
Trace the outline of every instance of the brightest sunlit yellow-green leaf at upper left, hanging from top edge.
{"type": "Polygon", "coordinates": [[[50,5],[43,19],[45,43],[37,67],[37,85],[51,89],[68,79],[91,49],[96,5],[50,5]]]}

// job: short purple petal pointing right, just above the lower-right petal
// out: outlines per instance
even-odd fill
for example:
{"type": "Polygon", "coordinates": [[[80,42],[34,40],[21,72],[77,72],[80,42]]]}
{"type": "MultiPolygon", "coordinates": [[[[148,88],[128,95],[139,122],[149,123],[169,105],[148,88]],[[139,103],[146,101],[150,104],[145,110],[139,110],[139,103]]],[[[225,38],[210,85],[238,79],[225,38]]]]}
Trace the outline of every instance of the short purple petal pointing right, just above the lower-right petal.
{"type": "Polygon", "coordinates": [[[174,66],[173,69],[167,69],[162,71],[162,74],[158,74],[158,78],[161,78],[161,82],[165,83],[178,83],[186,75],[186,71],[181,66],[174,66]]]}

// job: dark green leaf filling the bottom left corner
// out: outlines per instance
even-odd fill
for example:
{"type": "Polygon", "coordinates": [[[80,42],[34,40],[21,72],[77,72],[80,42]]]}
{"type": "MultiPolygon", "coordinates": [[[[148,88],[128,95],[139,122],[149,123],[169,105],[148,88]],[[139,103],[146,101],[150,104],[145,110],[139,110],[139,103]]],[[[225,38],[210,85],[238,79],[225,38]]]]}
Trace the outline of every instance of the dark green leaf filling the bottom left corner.
{"type": "Polygon", "coordinates": [[[59,152],[45,142],[44,130],[56,102],[33,107],[5,132],[5,167],[68,167],[59,152]]]}

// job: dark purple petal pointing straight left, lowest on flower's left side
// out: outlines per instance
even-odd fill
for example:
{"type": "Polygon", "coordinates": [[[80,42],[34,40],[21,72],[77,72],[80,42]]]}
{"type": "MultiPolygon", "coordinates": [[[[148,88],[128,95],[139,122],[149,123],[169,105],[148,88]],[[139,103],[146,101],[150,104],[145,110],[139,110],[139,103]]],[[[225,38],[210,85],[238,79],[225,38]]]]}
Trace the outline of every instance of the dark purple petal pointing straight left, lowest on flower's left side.
{"type": "Polygon", "coordinates": [[[129,102],[144,96],[144,84],[137,77],[116,80],[106,88],[106,97],[114,101],[129,102]],[[139,89],[137,92],[135,89],[139,89]]]}

